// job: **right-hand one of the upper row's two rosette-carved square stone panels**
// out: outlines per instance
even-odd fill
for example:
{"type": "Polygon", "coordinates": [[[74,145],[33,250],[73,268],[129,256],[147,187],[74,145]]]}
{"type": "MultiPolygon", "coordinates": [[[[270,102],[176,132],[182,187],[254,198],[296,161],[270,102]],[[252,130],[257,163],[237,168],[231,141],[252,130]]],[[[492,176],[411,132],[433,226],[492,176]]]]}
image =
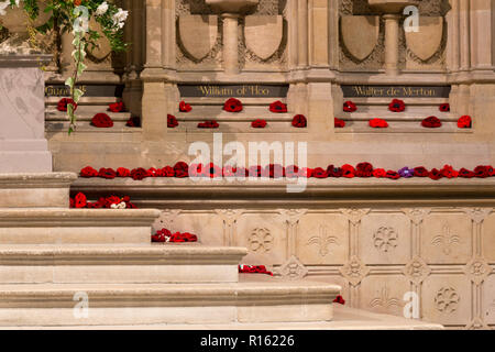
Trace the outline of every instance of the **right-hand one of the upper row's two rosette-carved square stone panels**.
{"type": "Polygon", "coordinates": [[[366,264],[405,264],[410,260],[410,221],[402,213],[371,213],[361,220],[359,244],[366,264]]]}

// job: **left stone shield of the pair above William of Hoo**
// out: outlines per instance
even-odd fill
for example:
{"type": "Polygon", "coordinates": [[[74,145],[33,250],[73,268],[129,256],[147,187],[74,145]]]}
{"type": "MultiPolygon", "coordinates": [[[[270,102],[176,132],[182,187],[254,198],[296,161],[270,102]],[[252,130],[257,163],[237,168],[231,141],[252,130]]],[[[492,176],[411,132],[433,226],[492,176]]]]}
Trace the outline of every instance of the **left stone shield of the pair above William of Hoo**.
{"type": "Polygon", "coordinates": [[[197,61],[201,61],[210,53],[217,42],[218,16],[180,15],[178,34],[187,54],[197,61]]]}

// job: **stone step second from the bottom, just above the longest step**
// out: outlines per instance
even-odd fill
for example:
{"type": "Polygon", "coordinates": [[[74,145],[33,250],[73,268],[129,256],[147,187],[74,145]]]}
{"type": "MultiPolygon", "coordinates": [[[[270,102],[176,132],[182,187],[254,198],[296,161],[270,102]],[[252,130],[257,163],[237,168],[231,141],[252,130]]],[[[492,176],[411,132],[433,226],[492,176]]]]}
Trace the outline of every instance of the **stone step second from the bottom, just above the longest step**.
{"type": "Polygon", "coordinates": [[[195,244],[0,245],[0,285],[237,283],[246,254],[195,244]]]}

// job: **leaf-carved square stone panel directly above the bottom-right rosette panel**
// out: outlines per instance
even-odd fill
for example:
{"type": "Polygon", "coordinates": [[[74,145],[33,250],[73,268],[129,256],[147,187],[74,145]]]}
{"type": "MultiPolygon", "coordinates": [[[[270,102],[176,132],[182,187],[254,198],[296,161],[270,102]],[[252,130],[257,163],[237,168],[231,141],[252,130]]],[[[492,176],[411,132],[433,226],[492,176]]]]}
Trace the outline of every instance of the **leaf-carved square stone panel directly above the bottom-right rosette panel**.
{"type": "Polygon", "coordinates": [[[472,221],[465,215],[430,215],[424,222],[421,253],[426,262],[465,264],[472,254],[472,221]]]}

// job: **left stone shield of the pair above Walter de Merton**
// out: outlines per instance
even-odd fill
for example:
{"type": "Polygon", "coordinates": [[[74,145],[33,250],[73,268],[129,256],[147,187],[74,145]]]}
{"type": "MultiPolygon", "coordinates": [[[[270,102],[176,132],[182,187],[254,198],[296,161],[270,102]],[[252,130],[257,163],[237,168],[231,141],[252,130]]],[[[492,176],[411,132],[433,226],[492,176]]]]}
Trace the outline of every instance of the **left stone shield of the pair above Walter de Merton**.
{"type": "Polygon", "coordinates": [[[378,43],[380,18],[375,15],[343,15],[340,22],[342,44],[356,59],[363,61],[378,43]]]}

